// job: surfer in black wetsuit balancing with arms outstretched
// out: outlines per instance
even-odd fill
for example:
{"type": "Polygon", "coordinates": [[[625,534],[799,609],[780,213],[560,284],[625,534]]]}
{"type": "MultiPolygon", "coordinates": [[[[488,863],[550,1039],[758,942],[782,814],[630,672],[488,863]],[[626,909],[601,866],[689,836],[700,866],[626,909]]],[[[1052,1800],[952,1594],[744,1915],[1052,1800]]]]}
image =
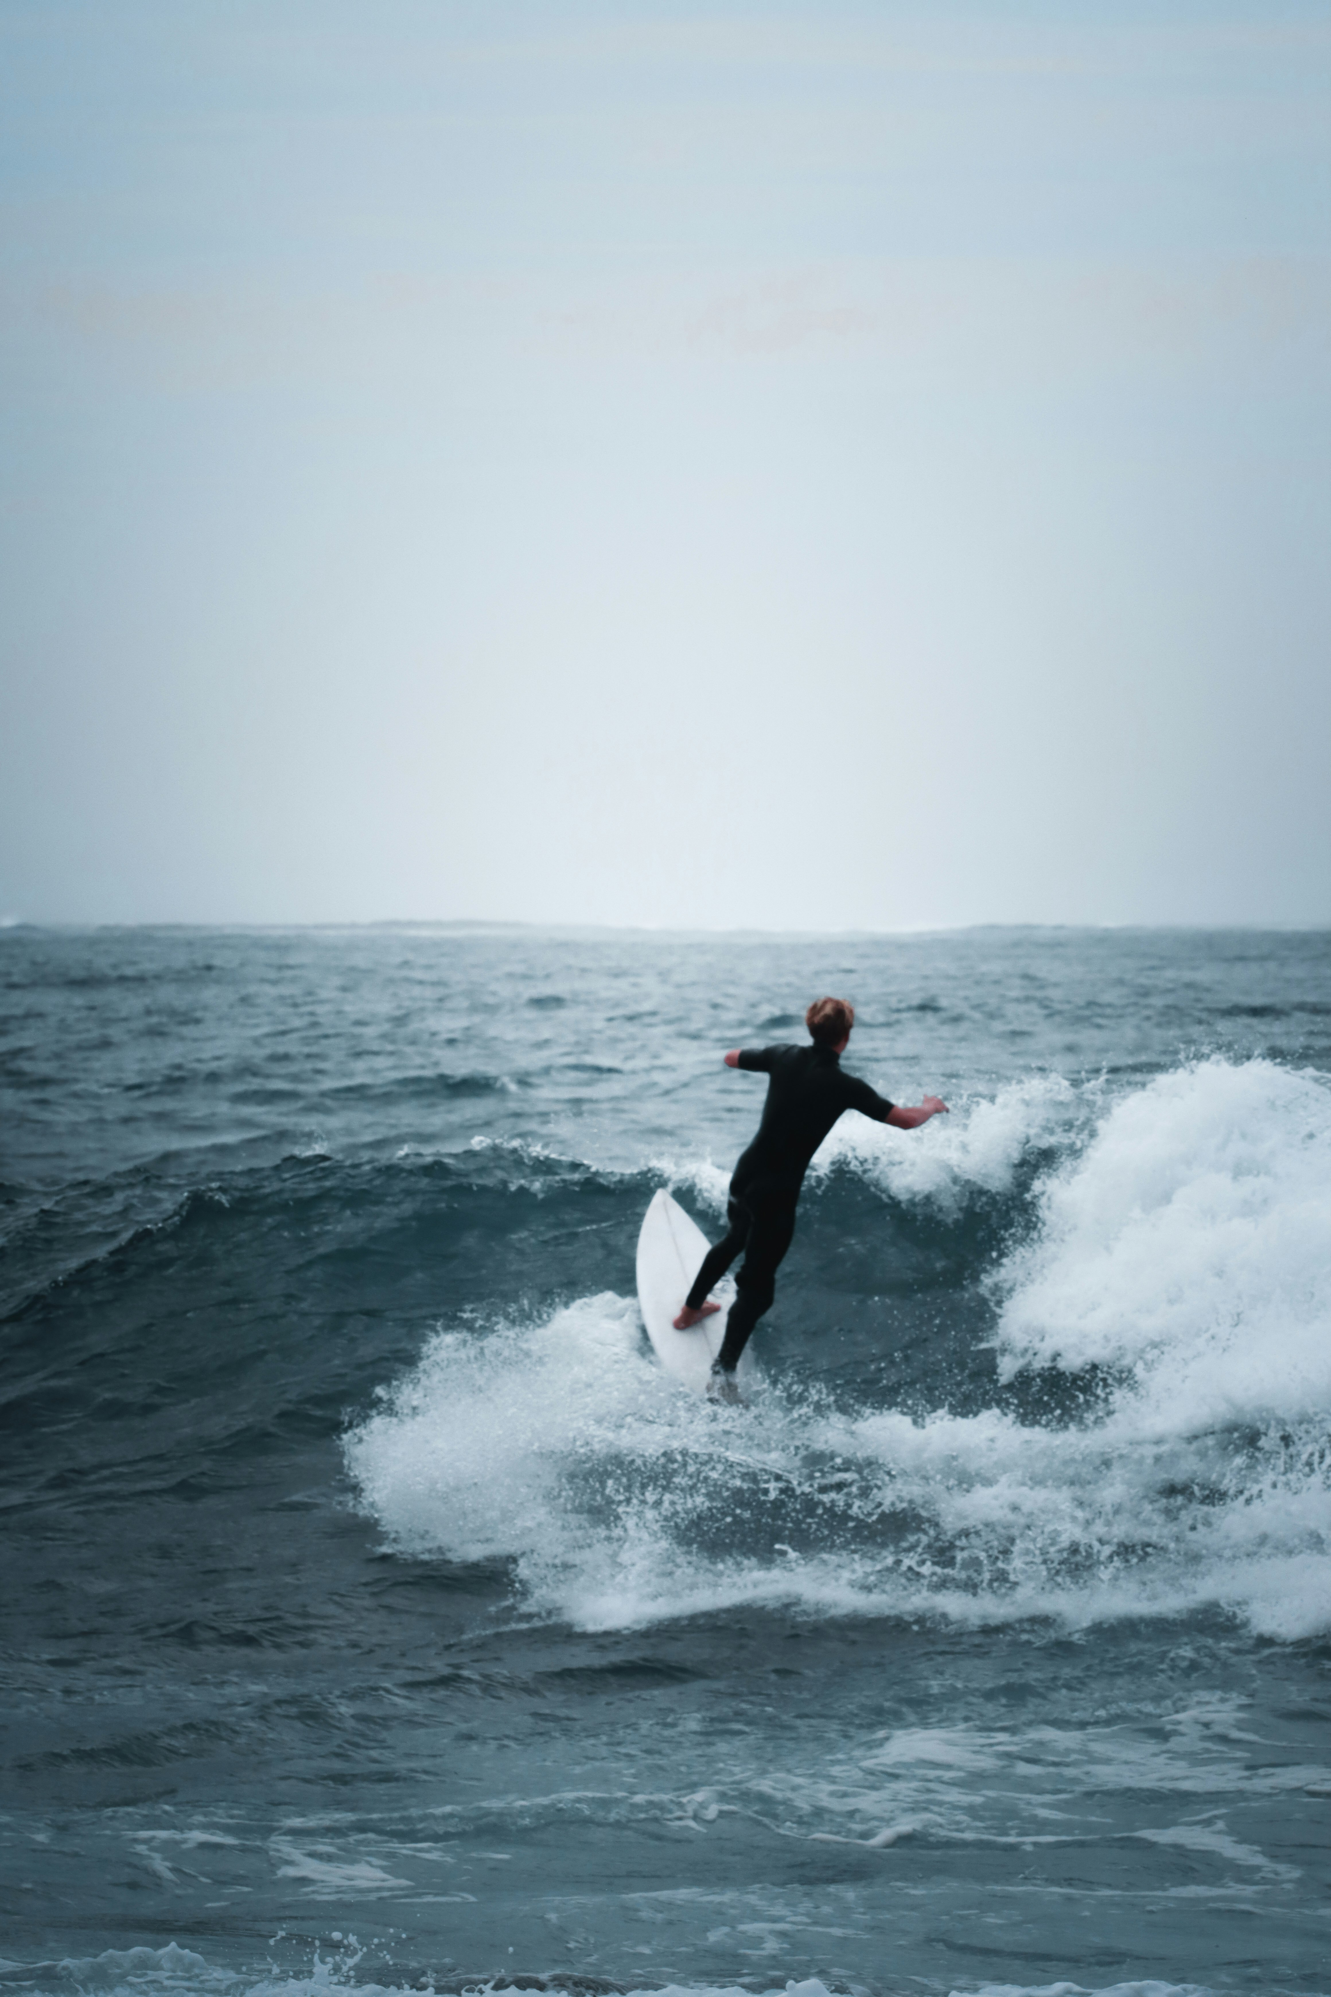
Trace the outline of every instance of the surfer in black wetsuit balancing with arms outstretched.
{"type": "Polygon", "coordinates": [[[948,1108],[940,1096],[924,1096],[918,1106],[904,1108],[888,1102],[858,1074],[842,1070],[840,1056],[854,1026],[854,1006],[846,998],[814,998],[804,1024],[810,1046],[732,1046],[724,1056],[728,1068],[766,1074],[768,1084],[758,1134],[730,1180],[728,1230],[702,1258],[684,1308],[674,1318],[674,1330],[686,1332],[720,1310],[720,1304],[708,1302],[708,1290],[744,1256],[734,1278],[736,1296],[726,1336],[712,1360],[708,1400],[740,1398],[734,1368],[754,1324],[772,1308],[776,1268],[794,1234],[804,1172],[836,1118],[844,1110],[858,1110],[896,1130],[918,1130],[948,1108]]]}

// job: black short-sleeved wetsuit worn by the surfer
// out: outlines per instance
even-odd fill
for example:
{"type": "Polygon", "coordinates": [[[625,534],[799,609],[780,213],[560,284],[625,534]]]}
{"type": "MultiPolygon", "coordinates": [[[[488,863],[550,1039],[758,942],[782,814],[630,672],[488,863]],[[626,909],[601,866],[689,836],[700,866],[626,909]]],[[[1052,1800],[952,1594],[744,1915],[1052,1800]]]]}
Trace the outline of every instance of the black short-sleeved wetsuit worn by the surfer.
{"type": "Polygon", "coordinates": [[[886,1122],[892,1112],[892,1104],[876,1088],[858,1074],[844,1074],[840,1054],[816,1040],[812,1046],[746,1046],[738,1064],[770,1074],[762,1122],[734,1166],[726,1238],[706,1252],[688,1292],[688,1308],[700,1310],[706,1292],[742,1252],[734,1278],[738,1296],[730,1304],[726,1336],[716,1354],[714,1370],[722,1372],[734,1372],[748,1334],[762,1312],[772,1308],[776,1268],[790,1246],[800,1186],[818,1144],[842,1110],[860,1110],[874,1122],[886,1122]]]}

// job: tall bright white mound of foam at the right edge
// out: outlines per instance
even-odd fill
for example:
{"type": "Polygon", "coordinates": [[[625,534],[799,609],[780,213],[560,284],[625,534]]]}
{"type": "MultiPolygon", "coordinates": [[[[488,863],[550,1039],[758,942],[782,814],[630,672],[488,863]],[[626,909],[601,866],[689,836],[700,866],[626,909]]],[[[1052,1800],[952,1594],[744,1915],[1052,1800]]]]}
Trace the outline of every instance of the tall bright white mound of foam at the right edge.
{"type": "MultiPolygon", "coordinates": [[[[1331,1090],[1207,1060],[1115,1104],[1008,1270],[1008,1370],[1125,1370],[1157,1434],[1331,1408],[1331,1090]]],[[[1127,1404],[1123,1404],[1127,1412],[1127,1404]]]]}

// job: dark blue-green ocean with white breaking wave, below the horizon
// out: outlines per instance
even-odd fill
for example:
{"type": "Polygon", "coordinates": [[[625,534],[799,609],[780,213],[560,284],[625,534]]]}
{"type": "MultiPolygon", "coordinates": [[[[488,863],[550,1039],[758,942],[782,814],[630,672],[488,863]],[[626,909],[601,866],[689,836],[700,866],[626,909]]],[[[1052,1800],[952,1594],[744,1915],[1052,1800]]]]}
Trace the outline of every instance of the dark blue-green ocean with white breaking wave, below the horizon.
{"type": "Polygon", "coordinates": [[[1331,1991],[1331,937],[10,929],[0,1178],[0,1989],[1331,1991]]]}

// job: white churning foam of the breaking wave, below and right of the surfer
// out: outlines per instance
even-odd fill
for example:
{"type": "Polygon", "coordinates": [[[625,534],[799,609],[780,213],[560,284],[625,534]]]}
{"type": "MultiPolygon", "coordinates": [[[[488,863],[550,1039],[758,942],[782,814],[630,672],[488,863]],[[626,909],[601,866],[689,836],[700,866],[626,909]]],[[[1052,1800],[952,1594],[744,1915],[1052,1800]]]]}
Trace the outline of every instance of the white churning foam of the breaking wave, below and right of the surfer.
{"type": "MultiPolygon", "coordinates": [[[[962,1136],[1012,1168],[1040,1084],[962,1136]],[[1008,1162],[1004,1162],[1008,1160],[1008,1162]]],[[[920,1194],[924,1196],[924,1194],[920,1194]]],[[[535,1614],[629,1628],[738,1604],[966,1622],[1221,1606],[1331,1628],[1331,1096],[1269,1062],[1201,1062],[1104,1112],[1002,1272],[1004,1366],[1106,1370],[1090,1422],[928,1420],[760,1386],[680,1394],[637,1304],[439,1332],[347,1438],[407,1554],[511,1562],[535,1614]]]]}

